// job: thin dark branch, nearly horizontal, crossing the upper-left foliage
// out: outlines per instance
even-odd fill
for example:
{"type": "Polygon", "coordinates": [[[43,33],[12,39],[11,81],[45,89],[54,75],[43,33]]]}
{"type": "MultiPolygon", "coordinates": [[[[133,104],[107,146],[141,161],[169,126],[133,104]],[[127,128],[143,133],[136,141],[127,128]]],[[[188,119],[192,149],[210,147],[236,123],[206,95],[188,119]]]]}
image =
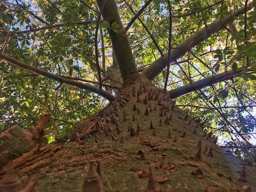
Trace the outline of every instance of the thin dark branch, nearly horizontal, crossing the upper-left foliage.
{"type": "Polygon", "coordinates": [[[45,27],[40,27],[40,28],[30,29],[30,30],[24,30],[24,31],[18,31],[18,32],[10,31],[8,34],[0,35],[0,37],[10,37],[10,36],[13,36],[13,35],[20,35],[20,34],[42,31],[42,30],[46,30],[46,29],[58,28],[58,27],[63,27],[63,26],[85,25],[85,24],[89,24],[89,23],[92,23],[92,22],[93,21],[78,21],[78,22],[73,22],[73,23],[63,23],[63,24],[49,25],[49,26],[45,26],[45,27]]]}

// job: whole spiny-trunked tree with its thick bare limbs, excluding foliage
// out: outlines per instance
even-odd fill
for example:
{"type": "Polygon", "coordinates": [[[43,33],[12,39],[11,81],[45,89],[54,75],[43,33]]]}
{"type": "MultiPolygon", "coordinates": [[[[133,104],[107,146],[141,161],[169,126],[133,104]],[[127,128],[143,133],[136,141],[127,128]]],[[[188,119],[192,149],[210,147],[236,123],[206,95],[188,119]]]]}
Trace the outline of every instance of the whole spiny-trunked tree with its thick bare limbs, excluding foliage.
{"type": "MultiPolygon", "coordinates": [[[[108,29],[123,79],[116,96],[101,89],[100,74],[100,88],[96,88],[0,53],[0,58],[9,64],[95,92],[111,101],[97,114],[76,123],[71,130],[72,142],[66,145],[42,145],[51,119],[47,111],[27,130],[13,125],[1,131],[2,191],[33,191],[35,188],[38,191],[85,192],[255,190],[256,168],[218,147],[218,136],[203,129],[205,122],[190,117],[172,100],[233,78],[250,66],[191,82],[170,92],[152,84],[170,63],[177,62],[206,38],[229,27],[235,17],[253,8],[252,3],[200,29],[141,72],[136,68],[126,30],[150,2],[135,14],[125,29],[116,2],[97,0],[104,22],[118,26],[115,30],[108,29]],[[21,182],[14,172],[24,181],[28,177],[33,180],[23,188],[24,181],[21,182]]],[[[99,22],[100,19],[96,25],[99,22]]],[[[96,64],[99,70],[98,62],[96,64]]],[[[252,146],[243,135],[241,137],[252,146]]]]}

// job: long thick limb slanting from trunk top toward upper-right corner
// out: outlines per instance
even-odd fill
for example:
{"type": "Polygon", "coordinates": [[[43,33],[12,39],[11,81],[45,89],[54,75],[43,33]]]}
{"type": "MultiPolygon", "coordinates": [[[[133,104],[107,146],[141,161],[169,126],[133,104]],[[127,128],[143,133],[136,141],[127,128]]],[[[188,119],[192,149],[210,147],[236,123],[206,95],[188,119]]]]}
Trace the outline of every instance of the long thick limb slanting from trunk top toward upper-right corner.
{"type": "MultiPolygon", "coordinates": [[[[253,5],[251,4],[252,3],[249,3],[249,5],[247,6],[247,11],[253,8],[253,5]]],[[[215,20],[211,24],[207,25],[207,27],[200,29],[197,33],[190,36],[177,47],[172,48],[171,62],[175,62],[176,60],[184,56],[187,53],[187,51],[192,50],[196,45],[200,44],[205,39],[211,37],[216,32],[224,29],[228,24],[230,24],[233,21],[234,17],[245,13],[245,9],[245,7],[242,7],[234,11],[232,14],[227,15],[223,20],[215,20]]],[[[149,67],[142,71],[142,74],[149,79],[154,79],[167,66],[167,60],[168,53],[164,54],[164,57],[160,57],[156,61],[151,63],[149,67]]]]}

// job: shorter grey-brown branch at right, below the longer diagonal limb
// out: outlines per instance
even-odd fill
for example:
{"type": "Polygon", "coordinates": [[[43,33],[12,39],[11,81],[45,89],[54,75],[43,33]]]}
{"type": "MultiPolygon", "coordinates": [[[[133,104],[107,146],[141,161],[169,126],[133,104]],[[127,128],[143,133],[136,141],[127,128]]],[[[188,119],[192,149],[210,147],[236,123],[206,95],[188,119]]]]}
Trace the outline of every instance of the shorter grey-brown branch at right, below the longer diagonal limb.
{"type": "Polygon", "coordinates": [[[235,72],[233,70],[230,70],[230,71],[219,73],[219,74],[216,74],[216,75],[213,75],[213,76],[210,76],[210,77],[206,77],[202,80],[193,82],[192,84],[185,85],[185,86],[173,89],[173,90],[169,91],[169,94],[170,94],[172,99],[180,97],[182,95],[185,95],[187,93],[199,90],[201,88],[204,88],[204,87],[207,87],[207,86],[210,86],[210,85],[213,85],[215,83],[222,82],[222,81],[225,81],[227,79],[231,79],[236,74],[241,72],[243,69],[245,69],[245,68],[238,68],[238,69],[236,69],[235,72]]]}

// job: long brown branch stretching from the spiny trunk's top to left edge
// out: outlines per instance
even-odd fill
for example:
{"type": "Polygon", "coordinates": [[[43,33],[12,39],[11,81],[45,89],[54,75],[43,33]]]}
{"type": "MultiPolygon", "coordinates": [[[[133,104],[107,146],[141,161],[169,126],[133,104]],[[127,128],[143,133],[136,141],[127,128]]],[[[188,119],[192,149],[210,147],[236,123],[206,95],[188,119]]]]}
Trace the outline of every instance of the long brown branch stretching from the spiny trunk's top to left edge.
{"type": "Polygon", "coordinates": [[[34,67],[32,65],[29,65],[29,64],[23,63],[21,61],[18,61],[16,59],[14,59],[12,57],[9,57],[9,56],[7,56],[5,54],[2,54],[2,53],[0,53],[0,58],[5,60],[6,62],[12,64],[12,65],[23,68],[23,69],[25,69],[27,71],[30,71],[32,73],[36,73],[36,74],[42,75],[44,77],[54,79],[54,80],[56,80],[60,83],[65,83],[65,84],[68,84],[68,85],[71,85],[71,86],[75,86],[75,87],[78,87],[78,88],[82,88],[82,89],[97,93],[97,94],[105,97],[106,99],[108,99],[110,101],[115,100],[115,97],[113,95],[111,95],[110,93],[107,93],[103,90],[100,90],[96,87],[86,85],[84,83],[80,83],[80,82],[77,82],[77,81],[74,81],[74,80],[71,80],[71,79],[67,79],[67,78],[61,77],[59,75],[55,75],[53,73],[44,71],[44,70],[39,69],[37,67],[34,67]]]}

